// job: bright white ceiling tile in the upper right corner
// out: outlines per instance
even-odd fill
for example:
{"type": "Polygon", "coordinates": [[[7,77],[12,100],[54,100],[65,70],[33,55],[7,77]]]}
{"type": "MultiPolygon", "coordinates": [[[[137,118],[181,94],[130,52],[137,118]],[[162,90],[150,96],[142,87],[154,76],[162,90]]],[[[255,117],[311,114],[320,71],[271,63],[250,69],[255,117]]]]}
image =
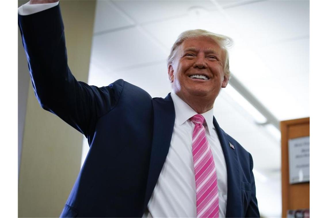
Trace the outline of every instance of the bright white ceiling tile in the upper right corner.
{"type": "Polygon", "coordinates": [[[253,46],[309,35],[309,1],[258,1],[225,12],[238,39],[253,46]]]}

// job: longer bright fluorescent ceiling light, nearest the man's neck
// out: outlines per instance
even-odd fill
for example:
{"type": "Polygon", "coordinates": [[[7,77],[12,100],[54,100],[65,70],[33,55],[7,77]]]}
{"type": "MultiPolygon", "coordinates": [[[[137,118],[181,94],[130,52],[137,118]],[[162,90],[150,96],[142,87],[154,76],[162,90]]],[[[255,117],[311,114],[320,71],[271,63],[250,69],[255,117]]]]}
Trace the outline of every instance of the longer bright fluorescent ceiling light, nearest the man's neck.
{"type": "Polygon", "coordinates": [[[247,101],[239,92],[236,91],[232,86],[227,86],[224,91],[230,95],[230,97],[239,104],[243,109],[245,109],[258,124],[263,124],[267,122],[267,119],[251,104],[247,101]]]}

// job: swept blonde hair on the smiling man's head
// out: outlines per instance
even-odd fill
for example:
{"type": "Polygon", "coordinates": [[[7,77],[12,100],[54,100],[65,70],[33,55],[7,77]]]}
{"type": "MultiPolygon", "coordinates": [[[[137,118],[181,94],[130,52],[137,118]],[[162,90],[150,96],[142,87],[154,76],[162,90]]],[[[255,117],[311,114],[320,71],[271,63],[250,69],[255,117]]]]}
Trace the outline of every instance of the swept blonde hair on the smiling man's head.
{"type": "Polygon", "coordinates": [[[184,42],[185,40],[191,39],[191,38],[202,37],[202,36],[213,39],[223,49],[223,51],[225,53],[225,61],[224,61],[224,66],[223,66],[224,74],[227,75],[228,78],[230,78],[229,54],[227,51],[227,47],[231,46],[233,44],[233,40],[230,37],[212,33],[212,32],[209,32],[209,31],[203,30],[203,29],[187,30],[187,31],[182,32],[178,36],[177,40],[174,42],[174,44],[172,46],[171,53],[167,59],[167,66],[169,67],[170,65],[172,65],[173,60],[175,58],[177,48],[179,47],[179,45],[182,44],[182,42],[184,42]]]}

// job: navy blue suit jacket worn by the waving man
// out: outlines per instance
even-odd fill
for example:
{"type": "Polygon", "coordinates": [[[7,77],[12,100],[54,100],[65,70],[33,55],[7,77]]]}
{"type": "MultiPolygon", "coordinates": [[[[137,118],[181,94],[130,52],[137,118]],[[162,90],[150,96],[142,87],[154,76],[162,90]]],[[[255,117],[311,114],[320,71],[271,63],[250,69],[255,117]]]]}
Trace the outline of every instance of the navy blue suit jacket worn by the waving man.
{"type": "MultiPolygon", "coordinates": [[[[83,133],[90,151],[61,217],[141,217],[169,151],[174,105],[122,79],[78,82],[67,65],[59,6],[18,16],[42,108],[83,133]]],[[[213,118],[228,175],[227,217],[259,217],[252,156],[213,118]],[[235,149],[229,146],[233,144],[235,149]]]]}

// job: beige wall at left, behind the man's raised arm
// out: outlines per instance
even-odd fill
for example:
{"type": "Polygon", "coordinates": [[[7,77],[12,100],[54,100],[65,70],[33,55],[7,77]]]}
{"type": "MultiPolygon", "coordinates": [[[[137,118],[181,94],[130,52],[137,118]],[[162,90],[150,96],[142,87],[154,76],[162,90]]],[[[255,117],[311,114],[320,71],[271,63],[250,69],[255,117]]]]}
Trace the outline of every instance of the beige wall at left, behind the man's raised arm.
{"type": "MultiPolygon", "coordinates": [[[[24,3],[18,1],[18,5],[24,3]]],[[[60,1],[69,66],[77,80],[85,82],[89,73],[95,4],[96,1],[60,1]]],[[[26,58],[22,58],[25,53],[21,39],[18,46],[18,79],[23,86],[19,90],[22,151],[18,216],[58,217],[80,170],[84,136],[40,107],[31,82],[24,88],[29,77],[26,77],[28,65],[26,58]]]]}

